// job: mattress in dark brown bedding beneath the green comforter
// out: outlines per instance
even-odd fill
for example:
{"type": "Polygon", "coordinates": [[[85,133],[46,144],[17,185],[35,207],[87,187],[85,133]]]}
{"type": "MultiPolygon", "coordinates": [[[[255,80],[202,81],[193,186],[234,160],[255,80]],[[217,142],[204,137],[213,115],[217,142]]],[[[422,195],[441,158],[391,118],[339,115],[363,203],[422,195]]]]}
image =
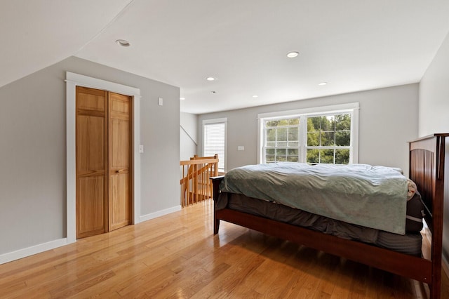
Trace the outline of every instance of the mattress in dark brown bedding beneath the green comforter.
{"type": "Polygon", "coordinates": [[[215,209],[220,210],[222,208],[286,222],[325,234],[332,234],[343,239],[373,244],[400,253],[421,255],[422,203],[419,193],[415,194],[407,204],[407,214],[411,216],[406,221],[406,234],[394,234],[361,225],[349,224],[297,208],[290,208],[282,204],[246,197],[243,194],[220,193],[217,201],[215,201],[215,209]]]}

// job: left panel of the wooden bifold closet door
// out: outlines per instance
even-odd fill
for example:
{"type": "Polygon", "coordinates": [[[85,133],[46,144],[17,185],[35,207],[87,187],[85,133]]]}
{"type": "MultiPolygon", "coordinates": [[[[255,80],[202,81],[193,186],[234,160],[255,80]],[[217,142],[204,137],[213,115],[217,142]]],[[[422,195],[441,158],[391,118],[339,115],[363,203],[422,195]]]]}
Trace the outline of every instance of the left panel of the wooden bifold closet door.
{"type": "Polygon", "coordinates": [[[76,238],[107,230],[107,92],[76,87],[76,238]]]}

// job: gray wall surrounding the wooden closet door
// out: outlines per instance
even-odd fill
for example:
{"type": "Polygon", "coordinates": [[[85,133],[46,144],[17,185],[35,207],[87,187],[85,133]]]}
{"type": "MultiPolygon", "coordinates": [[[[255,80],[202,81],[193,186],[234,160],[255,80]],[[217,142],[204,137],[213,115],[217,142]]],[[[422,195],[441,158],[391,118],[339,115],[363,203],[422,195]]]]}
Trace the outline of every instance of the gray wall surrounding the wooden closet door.
{"type": "Polygon", "coordinates": [[[0,254],[66,237],[66,71],[140,88],[141,215],[180,205],[179,88],[67,58],[0,88],[0,254]]]}

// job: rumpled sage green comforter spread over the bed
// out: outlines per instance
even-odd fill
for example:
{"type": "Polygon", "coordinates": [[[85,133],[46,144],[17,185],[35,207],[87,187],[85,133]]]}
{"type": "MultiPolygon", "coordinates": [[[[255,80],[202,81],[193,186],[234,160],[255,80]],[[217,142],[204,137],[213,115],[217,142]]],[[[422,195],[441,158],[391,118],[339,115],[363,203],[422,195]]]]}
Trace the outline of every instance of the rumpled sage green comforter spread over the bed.
{"type": "Polygon", "coordinates": [[[229,171],[220,190],[377,230],[406,232],[408,181],[398,168],[288,162],[250,165],[229,171]]]}

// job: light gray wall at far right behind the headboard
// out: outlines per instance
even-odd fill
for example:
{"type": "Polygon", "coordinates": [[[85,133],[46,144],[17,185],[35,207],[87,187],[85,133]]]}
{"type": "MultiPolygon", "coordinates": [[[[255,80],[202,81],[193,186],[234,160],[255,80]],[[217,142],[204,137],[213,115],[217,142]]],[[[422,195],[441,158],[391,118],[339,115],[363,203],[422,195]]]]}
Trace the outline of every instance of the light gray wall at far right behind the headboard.
{"type": "MultiPolygon", "coordinates": [[[[449,133],[449,34],[420,82],[419,135],[449,133]]],[[[449,138],[448,138],[449,139],[449,138]]],[[[445,144],[443,255],[449,260],[449,140],[445,144]]]]}

